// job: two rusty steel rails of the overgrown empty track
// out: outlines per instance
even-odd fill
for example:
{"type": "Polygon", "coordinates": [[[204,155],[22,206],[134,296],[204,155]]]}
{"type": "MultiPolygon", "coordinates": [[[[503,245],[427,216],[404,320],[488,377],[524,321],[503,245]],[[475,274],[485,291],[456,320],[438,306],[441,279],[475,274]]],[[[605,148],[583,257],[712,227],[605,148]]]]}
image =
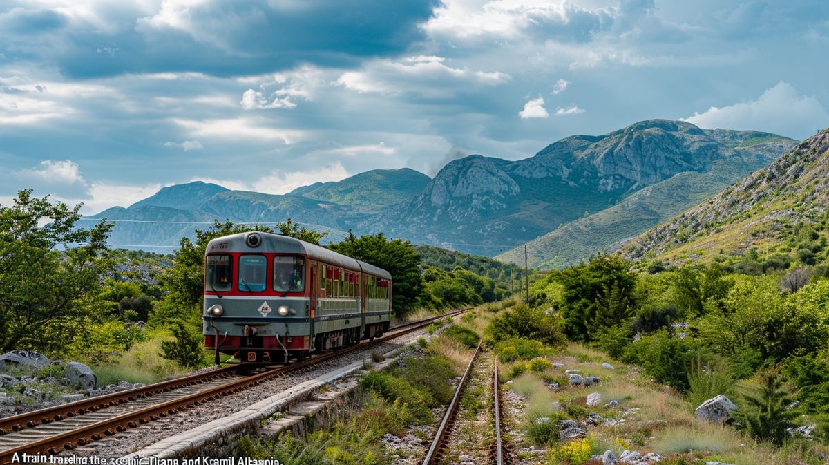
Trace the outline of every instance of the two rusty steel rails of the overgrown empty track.
{"type": "MultiPolygon", "coordinates": [[[[467,389],[470,379],[473,376],[473,366],[475,365],[476,361],[479,359],[479,355],[481,354],[481,344],[482,342],[478,343],[478,348],[475,350],[473,354],[472,360],[469,361],[469,365],[467,366],[466,371],[463,372],[463,377],[461,378],[460,382],[458,383],[458,387],[455,390],[455,395],[453,396],[452,401],[449,403],[446,413],[444,414],[444,418],[441,421],[438,431],[434,436],[434,440],[432,441],[431,446],[429,447],[429,451],[426,453],[423,465],[439,465],[440,463],[444,463],[446,461],[447,452],[450,448],[450,435],[453,432],[453,427],[456,425],[456,419],[458,416],[458,404],[460,404],[460,400],[463,396],[464,391],[467,389]]],[[[498,392],[498,366],[497,361],[493,361],[493,370],[492,370],[492,414],[494,416],[494,425],[495,425],[495,438],[493,439],[492,444],[489,445],[489,462],[502,465],[504,463],[504,448],[502,446],[502,438],[501,438],[501,400],[500,395],[498,392]]]]}

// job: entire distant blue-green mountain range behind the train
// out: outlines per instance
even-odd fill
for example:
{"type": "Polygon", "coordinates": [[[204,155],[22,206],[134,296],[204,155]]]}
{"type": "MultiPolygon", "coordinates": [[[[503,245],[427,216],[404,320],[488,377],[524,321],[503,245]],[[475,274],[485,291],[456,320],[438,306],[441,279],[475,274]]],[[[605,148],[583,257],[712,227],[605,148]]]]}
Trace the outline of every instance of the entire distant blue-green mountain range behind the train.
{"type": "Polygon", "coordinates": [[[191,182],[90,219],[117,220],[110,244],[153,251],[169,251],[214,219],[272,225],[291,218],[328,231],[330,240],[347,230],[383,232],[521,264],[522,245],[532,241],[532,265],[560,267],[641,234],[796,142],[655,119],[564,138],[515,162],[470,155],[434,179],[408,168],[374,170],[285,195],[191,182]]]}

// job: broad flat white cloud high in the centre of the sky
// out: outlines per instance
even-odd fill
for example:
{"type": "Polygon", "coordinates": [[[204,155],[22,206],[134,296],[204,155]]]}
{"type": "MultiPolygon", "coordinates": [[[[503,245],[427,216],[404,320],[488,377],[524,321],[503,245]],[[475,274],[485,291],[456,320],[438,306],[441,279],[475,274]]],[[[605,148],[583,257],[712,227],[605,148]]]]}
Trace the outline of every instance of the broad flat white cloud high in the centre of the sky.
{"type": "Polygon", "coordinates": [[[361,93],[448,98],[460,91],[502,85],[510,80],[510,75],[499,71],[444,65],[444,58],[439,56],[411,56],[403,61],[372,61],[360,71],[343,73],[335,84],[361,93]]]}

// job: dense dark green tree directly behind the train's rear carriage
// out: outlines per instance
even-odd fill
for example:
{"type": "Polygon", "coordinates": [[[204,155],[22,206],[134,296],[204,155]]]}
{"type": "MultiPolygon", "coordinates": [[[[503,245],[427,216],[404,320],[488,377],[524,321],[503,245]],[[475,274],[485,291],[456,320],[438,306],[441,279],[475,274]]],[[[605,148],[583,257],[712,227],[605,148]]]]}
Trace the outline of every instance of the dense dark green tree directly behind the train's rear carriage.
{"type": "Polygon", "coordinates": [[[420,257],[408,240],[387,240],[383,233],[356,237],[328,245],[329,249],[385,269],[394,283],[392,303],[398,315],[409,311],[423,290],[420,257]]]}

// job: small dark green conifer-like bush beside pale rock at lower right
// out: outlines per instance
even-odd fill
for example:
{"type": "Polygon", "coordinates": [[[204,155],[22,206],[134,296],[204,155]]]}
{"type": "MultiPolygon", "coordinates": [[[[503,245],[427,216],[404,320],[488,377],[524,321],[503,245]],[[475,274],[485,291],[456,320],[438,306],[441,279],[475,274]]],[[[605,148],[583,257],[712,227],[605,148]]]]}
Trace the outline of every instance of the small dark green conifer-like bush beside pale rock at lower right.
{"type": "Polygon", "coordinates": [[[744,395],[744,407],[739,419],[748,434],[761,441],[783,444],[786,429],[792,426],[797,413],[788,409],[792,403],[777,371],[760,375],[760,389],[754,395],[744,395]]]}

